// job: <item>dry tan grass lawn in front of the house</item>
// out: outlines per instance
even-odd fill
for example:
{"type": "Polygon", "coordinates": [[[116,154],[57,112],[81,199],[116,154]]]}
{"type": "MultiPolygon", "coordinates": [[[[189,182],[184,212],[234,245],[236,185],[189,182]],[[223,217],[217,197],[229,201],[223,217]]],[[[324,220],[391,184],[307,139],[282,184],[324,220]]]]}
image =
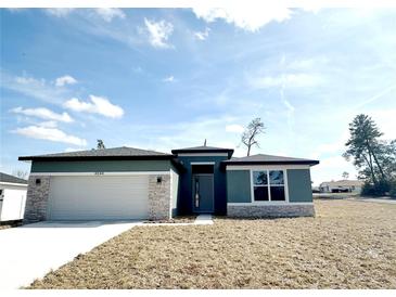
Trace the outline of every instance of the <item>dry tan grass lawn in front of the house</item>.
{"type": "Polygon", "coordinates": [[[396,205],[315,207],[316,218],[133,228],[30,287],[396,288],[396,205]]]}

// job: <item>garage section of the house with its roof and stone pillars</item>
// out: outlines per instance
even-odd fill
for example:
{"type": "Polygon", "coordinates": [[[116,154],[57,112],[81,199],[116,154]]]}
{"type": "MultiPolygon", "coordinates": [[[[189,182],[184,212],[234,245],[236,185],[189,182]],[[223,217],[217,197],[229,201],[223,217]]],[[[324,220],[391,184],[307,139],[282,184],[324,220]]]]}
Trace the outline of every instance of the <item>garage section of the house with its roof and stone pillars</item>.
{"type": "Polygon", "coordinates": [[[176,212],[173,154],[114,147],[22,156],[30,160],[25,222],[167,220],[176,212]]]}

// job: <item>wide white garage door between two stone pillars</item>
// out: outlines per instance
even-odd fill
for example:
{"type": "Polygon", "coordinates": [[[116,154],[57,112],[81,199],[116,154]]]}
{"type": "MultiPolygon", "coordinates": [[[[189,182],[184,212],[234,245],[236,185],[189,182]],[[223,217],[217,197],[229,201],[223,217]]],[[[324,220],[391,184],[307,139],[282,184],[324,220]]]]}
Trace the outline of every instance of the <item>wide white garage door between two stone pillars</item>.
{"type": "Polygon", "coordinates": [[[148,202],[148,176],[51,177],[49,219],[146,219],[148,202]]]}

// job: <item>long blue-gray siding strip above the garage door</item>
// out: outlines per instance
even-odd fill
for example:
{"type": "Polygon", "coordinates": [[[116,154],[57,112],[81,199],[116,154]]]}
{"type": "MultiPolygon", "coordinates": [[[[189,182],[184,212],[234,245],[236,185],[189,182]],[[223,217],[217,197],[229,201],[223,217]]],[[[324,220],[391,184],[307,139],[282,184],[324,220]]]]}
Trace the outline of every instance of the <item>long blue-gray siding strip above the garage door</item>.
{"type": "Polygon", "coordinates": [[[167,171],[170,160],[33,162],[31,172],[167,171]]]}

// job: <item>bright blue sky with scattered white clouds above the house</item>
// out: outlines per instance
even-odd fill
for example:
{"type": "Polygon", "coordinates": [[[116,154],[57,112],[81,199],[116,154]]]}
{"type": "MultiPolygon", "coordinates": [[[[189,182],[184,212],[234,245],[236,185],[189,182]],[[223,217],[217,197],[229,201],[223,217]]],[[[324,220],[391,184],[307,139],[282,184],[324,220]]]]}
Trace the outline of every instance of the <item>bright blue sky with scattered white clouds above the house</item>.
{"type": "Polygon", "coordinates": [[[358,113],[396,138],[396,10],[1,10],[1,165],[20,155],[129,145],[341,157],[358,113]]]}

